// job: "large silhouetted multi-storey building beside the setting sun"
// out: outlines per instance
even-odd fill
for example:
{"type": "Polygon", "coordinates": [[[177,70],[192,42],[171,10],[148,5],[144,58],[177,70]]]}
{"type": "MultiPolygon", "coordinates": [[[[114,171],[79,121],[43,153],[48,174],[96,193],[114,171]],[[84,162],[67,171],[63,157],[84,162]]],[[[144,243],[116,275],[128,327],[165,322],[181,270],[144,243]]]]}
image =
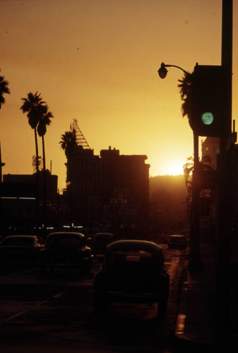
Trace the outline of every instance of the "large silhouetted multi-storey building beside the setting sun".
{"type": "Polygon", "coordinates": [[[150,167],[146,159],[120,155],[111,147],[98,156],[78,145],[66,163],[71,222],[96,220],[117,229],[145,227],[150,167]]]}

